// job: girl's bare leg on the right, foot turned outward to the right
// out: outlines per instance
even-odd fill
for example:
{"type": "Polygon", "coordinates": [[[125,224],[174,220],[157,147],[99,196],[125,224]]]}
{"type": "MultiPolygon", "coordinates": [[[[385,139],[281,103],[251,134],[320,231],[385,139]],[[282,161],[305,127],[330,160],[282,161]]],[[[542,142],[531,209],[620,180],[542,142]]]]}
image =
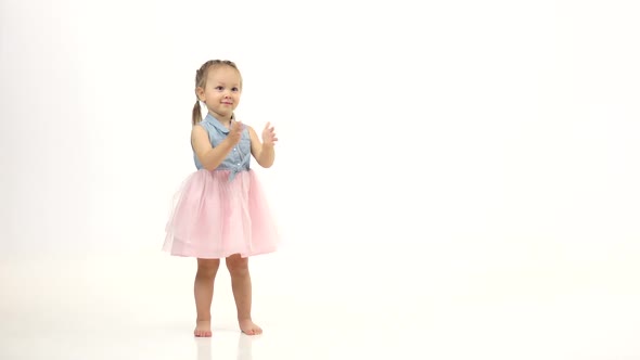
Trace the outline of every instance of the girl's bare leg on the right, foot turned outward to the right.
{"type": "Polygon", "coordinates": [[[226,262],[231,274],[231,288],[238,308],[240,330],[247,335],[259,335],[263,330],[253,322],[251,317],[252,283],[248,273],[248,258],[242,258],[240,254],[235,254],[228,257],[226,262]]]}

